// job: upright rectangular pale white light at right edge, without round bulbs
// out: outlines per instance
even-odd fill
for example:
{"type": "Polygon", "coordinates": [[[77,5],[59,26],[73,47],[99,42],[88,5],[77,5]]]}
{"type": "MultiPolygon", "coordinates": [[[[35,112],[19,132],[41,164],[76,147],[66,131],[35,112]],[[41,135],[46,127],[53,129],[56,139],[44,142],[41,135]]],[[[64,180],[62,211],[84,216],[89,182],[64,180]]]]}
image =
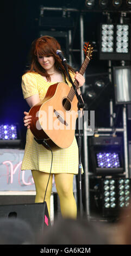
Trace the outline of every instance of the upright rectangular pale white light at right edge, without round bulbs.
{"type": "Polygon", "coordinates": [[[131,66],[114,66],[116,104],[131,103],[131,66]]]}

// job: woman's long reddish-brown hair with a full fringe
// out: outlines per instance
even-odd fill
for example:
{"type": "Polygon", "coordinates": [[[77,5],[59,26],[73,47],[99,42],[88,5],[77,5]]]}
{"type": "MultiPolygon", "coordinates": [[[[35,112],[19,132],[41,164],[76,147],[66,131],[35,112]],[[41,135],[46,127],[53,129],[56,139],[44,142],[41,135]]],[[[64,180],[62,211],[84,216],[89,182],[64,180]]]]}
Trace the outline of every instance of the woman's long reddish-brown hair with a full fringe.
{"type": "MultiPolygon", "coordinates": [[[[61,63],[60,57],[57,55],[57,50],[61,51],[59,42],[49,35],[41,36],[32,42],[30,49],[30,67],[26,72],[35,72],[47,78],[47,81],[51,81],[51,76],[47,73],[45,69],[38,62],[39,56],[53,56],[55,59],[55,68],[61,70],[67,77],[66,70],[61,63]]],[[[67,64],[68,71],[74,72],[74,69],[67,64]]]]}

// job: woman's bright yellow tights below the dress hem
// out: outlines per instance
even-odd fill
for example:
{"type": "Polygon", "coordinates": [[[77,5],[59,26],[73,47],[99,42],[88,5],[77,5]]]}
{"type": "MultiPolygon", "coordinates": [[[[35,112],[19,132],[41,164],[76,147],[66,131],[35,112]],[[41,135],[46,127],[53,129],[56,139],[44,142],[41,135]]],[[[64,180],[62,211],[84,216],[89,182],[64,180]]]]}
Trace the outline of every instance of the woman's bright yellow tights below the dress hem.
{"type": "MultiPolygon", "coordinates": [[[[36,188],[35,203],[42,203],[45,197],[46,186],[48,182],[48,173],[32,170],[33,179],[36,188]]],[[[52,178],[51,174],[46,192],[45,201],[50,216],[50,197],[52,193],[52,178]]],[[[77,205],[73,196],[73,174],[54,174],[57,193],[60,198],[60,209],[63,217],[77,218],[77,205]]]]}

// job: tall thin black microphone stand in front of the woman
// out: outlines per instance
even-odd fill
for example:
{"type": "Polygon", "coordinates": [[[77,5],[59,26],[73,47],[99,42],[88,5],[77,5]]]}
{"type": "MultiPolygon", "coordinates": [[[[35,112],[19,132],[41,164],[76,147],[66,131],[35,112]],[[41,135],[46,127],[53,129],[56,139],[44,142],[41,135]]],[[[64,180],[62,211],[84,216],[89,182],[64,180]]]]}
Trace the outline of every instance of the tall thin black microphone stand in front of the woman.
{"type": "Polygon", "coordinates": [[[74,92],[78,99],[78,105],[77,105],[77,107],[78,107],[78,152],[79,152],[78,187],[79,187],[79,211],[80,211],[80,218],[82,218],[83,217],[83,207],[82,207],[82,205],[83,205],[82,204],[82,136],[80,133],[80,124],[81,124],[80,109],[84,109],[84,102],[83,102],[82,98],[80,97],[80,95],[77,93],[76,86],[74,86],[72,78],[71,78],[70,74],[68,73],[66,62],[62,60],[62,64],[67,72],[68,79],[71,82],[74,92]]]}

